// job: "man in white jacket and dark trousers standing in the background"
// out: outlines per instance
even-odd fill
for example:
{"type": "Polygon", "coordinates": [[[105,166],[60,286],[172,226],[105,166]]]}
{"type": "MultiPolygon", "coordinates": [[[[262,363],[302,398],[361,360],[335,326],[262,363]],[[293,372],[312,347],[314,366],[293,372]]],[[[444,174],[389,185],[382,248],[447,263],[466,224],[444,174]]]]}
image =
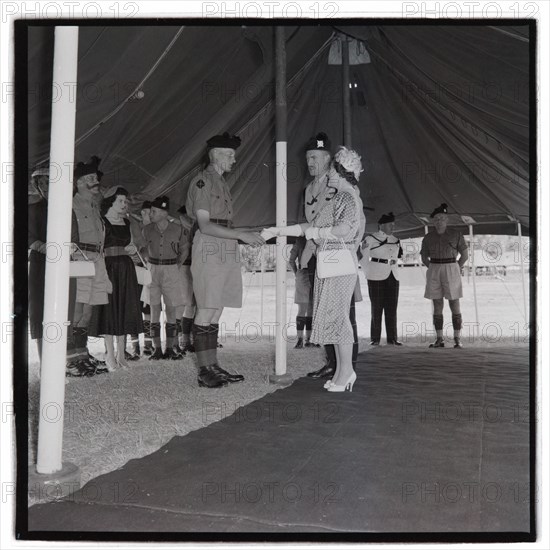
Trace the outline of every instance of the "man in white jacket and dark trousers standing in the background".
{"type": "Polygon", "coordinates": [[[397,301],[399,298],[399,269],[397,260],[403,255],[401,242],[393,235],[395,216],[383,214],[378,220],[378,231],[367,235],[361,248],[361,265],[369,285],[371,301],[371,345],[380,343],[382,315],[386,322],[388,344],[401,346],[397,340],[397,301]]]}

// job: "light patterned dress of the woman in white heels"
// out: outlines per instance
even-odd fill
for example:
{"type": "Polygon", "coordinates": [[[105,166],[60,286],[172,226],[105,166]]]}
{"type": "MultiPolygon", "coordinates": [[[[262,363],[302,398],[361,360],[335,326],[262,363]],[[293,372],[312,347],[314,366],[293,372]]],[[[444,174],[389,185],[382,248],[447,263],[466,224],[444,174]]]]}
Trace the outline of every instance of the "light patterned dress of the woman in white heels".
{"type": "MultiPolygon", "coordinates": [[[[339,191],[313,221],[315,227],[348,224],[351,229],[343,238],[344,246],[351,251],[357,264],[357,247],[361,240],[360,229],[363,203],[353,190],[339,191]]],[[[316,240],[317,251],[342,248],[342,240],[316,240]]],[[[313,290],[313,330],[311,341],[315,344],[353,344],[353,329],[349,319],[351,297],[357,275],[343,275],[320,279],[315,274],[313,290]]]]}

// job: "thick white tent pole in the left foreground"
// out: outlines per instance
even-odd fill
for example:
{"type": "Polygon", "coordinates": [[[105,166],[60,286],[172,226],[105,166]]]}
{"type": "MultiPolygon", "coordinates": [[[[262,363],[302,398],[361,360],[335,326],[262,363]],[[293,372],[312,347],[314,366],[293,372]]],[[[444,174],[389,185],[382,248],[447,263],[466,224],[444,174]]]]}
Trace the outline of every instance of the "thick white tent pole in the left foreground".
{"type": "MultiPolygon", "coordinates": [[[[77,67],[78,27],[56,27],[53,86],[63,82],[76,83],[77,67]]],[[[75,119],[76,102],[71,94],[63,93],[52,102],[50,174],[59,174],[60,177],[52,178],[48,193],[49,261],[46,262],[44,292],[36,464],[39,474],[52,474],[62,469],[75,119]]]]}

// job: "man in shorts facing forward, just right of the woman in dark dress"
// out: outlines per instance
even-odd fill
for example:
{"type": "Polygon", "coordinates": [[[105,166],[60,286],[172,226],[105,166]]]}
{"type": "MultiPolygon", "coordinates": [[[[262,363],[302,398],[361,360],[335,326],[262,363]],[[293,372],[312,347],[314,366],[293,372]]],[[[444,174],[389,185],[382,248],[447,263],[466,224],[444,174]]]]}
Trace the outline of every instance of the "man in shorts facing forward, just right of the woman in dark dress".
{"type": "Polygon", "coordinates": [[[149,360],[181,359],[183,355],[174,351],[176,342],[176,309],[182,305],[179,273],[180,250],[184,246],[184,234],[180,225],[168,220],[170,200],[157,197],[151,203],[151,223],[143,227],[147,243],[144,249],[151,270],[150,306],[151,337],[155,351],[149,360]],[[162,353],[160,334],[161,298],[166,315],[166,350],[162,353]]]}

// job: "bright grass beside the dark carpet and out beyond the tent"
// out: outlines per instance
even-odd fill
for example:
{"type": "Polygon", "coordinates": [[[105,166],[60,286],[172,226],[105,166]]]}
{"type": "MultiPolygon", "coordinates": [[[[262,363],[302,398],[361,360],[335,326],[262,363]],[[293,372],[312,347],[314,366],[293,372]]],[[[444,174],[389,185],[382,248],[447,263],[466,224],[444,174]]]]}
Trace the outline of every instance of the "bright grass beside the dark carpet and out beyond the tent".
{"type": "MultiPolygon", "coordinates": [[[[221,319],[223,349],[220,363],[245,376],[245,382],[221,389],[199,388],[193,357],[182,361],[147,359],[130,368],[93,378],[67,379],[64,412],[63,460],[76,464],[82,484],[120,468],[128,460],[150,454],[175,435],[185,435],[231,415],[237,408],[273,392],[275,289],[257,284],[259,274],[244,275],[242,309],[227,309],[221,319]],[[263,297],[263,300],[262,300],[263,297]],[[263,330],[261,330],[263,327],[263,330]]],[[[370,302],[361,275],[364,300],[357,304],[360,351],[368,349],[370,302]]],[[[479,337],[475,331],[473,284],[463,280],[462,311],[465,345],[490,348],[510,343],[525,345],[527,326],[519,274],[503,280],[477,279],[479,337]],[[470,324],[472,323],[472,324],[470,324]]],[[[426,346],[433,338],[431,305],[423,298],[423,272],[407,268],[399,297],[399,332],[407,346],[426,346]]],[[[323,364],[322,348],[295,350],[296,316],[293,304],[294,278],[287,283],[287,370],[293,379],[323,364]]],[[[527,296],[528,299],[528,296],[527,296]]],[[[445,312],[450,324],[450,313],[445,312]]],[[[384,334],[384,333],[383,333],[384,334]]],[[[452,327],[448,335],[452,336],[452,327]]],[[[100,356],[103,342],[90,341],[92,353],[100,356]]],[[[39,418],[39,364],[35,343],[29,341],[29,464],[36,461],[39,418]]],[[[30,500],[30,503],[35,502],[30,500]]]]}

